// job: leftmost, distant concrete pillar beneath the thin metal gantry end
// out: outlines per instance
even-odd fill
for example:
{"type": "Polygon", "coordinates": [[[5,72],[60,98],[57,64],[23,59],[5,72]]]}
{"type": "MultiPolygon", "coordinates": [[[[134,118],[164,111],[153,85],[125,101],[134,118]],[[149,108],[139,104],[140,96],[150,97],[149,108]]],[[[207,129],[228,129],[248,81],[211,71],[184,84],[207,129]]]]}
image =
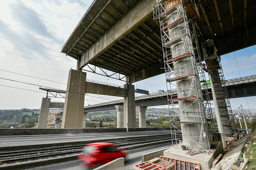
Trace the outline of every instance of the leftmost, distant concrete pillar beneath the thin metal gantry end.
{"type": "Polygon", "coordinates": [[[51,98],[46,97],[42,99],[37,128],[46,128],[47,118],[49,115],[50,102],[51,102],[51,98]]]}

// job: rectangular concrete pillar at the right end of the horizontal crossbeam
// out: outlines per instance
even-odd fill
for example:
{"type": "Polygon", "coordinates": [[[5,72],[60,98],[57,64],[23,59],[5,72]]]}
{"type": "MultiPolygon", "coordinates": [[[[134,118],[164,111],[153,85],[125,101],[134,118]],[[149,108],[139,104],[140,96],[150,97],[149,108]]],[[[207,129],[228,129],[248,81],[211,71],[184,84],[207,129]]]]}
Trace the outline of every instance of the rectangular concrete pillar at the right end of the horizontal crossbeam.
{"type": "Polygon", "coordinates": [[[128,128],[136,128],[134,85],[125,84],[124,88],[127,89],[127,97],[124,97],[124,128],[127,128],[127,124],[128,128]]]}

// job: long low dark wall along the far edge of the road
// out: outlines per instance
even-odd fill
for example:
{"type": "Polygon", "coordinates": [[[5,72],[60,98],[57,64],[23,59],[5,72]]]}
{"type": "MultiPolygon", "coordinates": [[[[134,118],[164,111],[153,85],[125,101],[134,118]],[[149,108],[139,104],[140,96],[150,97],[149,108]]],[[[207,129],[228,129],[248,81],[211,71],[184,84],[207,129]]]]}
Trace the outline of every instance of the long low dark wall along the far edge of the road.
{"type": "MultiPolygon", "coordinates": [[[[170,129],[171,128],[129,128],[129,131],[153,131],[170,129]]],[[[126,132],[126,128],[0,128],[0,136],[111,132],[126,132]]]]}

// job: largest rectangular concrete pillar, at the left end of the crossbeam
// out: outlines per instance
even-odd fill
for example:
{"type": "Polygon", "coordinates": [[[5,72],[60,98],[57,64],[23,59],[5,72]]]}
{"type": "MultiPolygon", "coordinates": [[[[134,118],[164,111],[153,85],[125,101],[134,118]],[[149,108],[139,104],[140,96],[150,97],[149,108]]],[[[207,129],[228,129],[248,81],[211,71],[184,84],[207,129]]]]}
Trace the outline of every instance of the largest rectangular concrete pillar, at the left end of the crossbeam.
{"type": "Polygon", "coordinates": [[[61,128],[82,128],[86,73],[69,70],[61,128]]]}

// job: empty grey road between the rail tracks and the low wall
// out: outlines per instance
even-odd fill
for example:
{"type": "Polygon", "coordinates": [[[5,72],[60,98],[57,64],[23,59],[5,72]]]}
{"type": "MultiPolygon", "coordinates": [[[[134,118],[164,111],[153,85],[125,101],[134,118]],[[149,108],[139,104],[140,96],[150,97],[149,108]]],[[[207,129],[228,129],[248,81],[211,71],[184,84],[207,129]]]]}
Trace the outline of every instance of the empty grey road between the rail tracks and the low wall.
{"type": "Polygon", "coordinates": [[[117,132],[117,133],[87,133],[87,134],[70,134],[70,135],[30,135],[30,136],[12,136],[0,137],[0,147],[4,146],[21,146],[31,144],[47,144],[86,141],[96,139],[114,139],[122,137],[149,136],[156,134],[170,134],[170,130],[159,131],[140,131],[140,132],[117,132]]]}

